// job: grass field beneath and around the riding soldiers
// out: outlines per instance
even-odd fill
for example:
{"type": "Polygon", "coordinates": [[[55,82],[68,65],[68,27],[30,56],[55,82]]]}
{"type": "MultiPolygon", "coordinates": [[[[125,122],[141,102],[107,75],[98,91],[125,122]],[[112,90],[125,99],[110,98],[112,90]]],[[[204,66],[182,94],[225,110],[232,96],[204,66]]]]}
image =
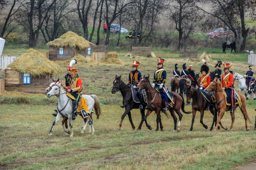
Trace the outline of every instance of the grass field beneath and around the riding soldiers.
{"type": "MultiPolygon", "coordinates": [[[[47,48],[38,48],[46,52],[47,48]]],[[[7,48],[4,53],[20,54],[23,47],[7,48]]],[[[25,51],[25,50],[24,50],[25,51]]],[[[167,70],[167,84],[170,88],[170,78],[174,64],[193,65],[196,73],[200,71],[201,62],[196,59],[184,60],[178,53],[168,49],[152,49],[157,56],[165,60],[167,70]]],[[[199,50],[201,56],[204,49],[199,50]]],[[[189,131],[192,115],[184,115],[181,131],[173,130],[173,119],[162,115],[163,132],[155,132],[156,116],[152,113],[148,123],[153,130],[143,125],[142,130],[133,131],[128,118],[122,124],[122,130],[116,131],[124,109],[119,105],[122,96],[111,94],[115,75],[122,74],[126,82],[131,70],[133,58],[124,57],[131,51],[119,51],[122,64],[106,64],[102,62],[88,62],[78,67],[79,76],[83,80],[84,91],[96,94],[102,105],[103,115],[96,120],[93,115],[95,134],[80,134],[82,119],[74,121],[74,137],[65,135],[60,122],[49,138],[54,117],[51,115],[56,109],[57,98],[47,98],[44,95],[20,94],[6,92],[0,95],[0,169],[163,169],[163,170],[228,170],[238,165],[244,165],[256,160],[256,131],[254,121],[256,103],[252,99],[246,101],[252,123],[250,131],[245,130],[244,118],[241,111],[235,113],[236,121],[233,131],[218,130],[210,132],[200,124],[197,113],[194,129],[189,131]]],[[[247,54],[222,54],[219,49],[206,50],[211,54],[212,61],[207,62],[214,70],[218,59],[230,62],[234,72],[245,74],[247,71],[247,54]]],[[[150,74],[150,80],[157,68],[156,58],[135,58],[140,64],[140,71],[144,75],[150,74]]],[[[66,65],[62,68],[65,70],[66,65]]],[[[256,67],[253,67],[256,70],[256,67]]],[[[3,71],[0,78],[3,78],[3,71]]],[[[64,79],[64,75],[60,76],[64,79]]],[[[238,84],[236,82],[236,88],[238,84]]],[[[238,90],[238,89],[237,89],[238,90]]],[[[191,106],[186,106],[188,111],[191,106]]],[[[139,125],[141,116],[138,110],[132,111],[134,125],[139,125]]],[[[211,125],[212,115],[206,111],[204,123],[211,125]]],[[[222,122],[228,128],[231,125],[230,113],[227,112],[222,122]]]]}

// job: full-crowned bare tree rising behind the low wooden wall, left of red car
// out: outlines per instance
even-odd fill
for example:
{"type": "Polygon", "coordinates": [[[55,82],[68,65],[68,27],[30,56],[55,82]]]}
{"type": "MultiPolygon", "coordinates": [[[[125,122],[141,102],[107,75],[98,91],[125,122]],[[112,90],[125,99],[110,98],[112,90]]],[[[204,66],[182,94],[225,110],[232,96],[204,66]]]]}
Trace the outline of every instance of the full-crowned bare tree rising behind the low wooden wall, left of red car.
{"type": "Polygon", "coordinates": [[[175,23],[179,32],[178,50],[183,48],[185,40],[189,37],[195,27],[195,19],[198,16],[194,0],[174,0],[169,3],[170,18],[175,23]]]}

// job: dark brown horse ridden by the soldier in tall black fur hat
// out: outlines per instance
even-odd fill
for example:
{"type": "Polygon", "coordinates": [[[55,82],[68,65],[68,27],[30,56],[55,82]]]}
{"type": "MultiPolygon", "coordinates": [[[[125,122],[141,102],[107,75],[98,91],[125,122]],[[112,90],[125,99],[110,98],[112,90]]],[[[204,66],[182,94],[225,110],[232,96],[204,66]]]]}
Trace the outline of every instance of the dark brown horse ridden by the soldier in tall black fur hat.
{"type": "MultiPolygon", "coordinates": [[[[205,107],[206,107],[206,102],[204,100],[203,94],[200,93],[200,91],[198,91],[195,88],[195,86],[187,86],[186,90],[185,90],[185,94],[186,94],[186,99],[187,99],[188,104],[190,103],[190,101],[192,99],[192,114],[193,114],[193,116],[192,116],[192,123],[191,123],[190,131],[193,130],[193,124],[195,122],[196,111],[199,111],[201,113],[200,123],[204,126],[204,128],[207,129],[208,126],[205,125],[203,122],[204,111],[205,111],[205,107]]],[[[214,123],[216,123],[216,121],[217,121],[217,109],[215,108],[215,102],[212,101],[211,98],[210,98],[210,101],[211,101],[210,112],[213,115],[212,126],[210,128],[210,130],[212,130],[214,123]]]]}

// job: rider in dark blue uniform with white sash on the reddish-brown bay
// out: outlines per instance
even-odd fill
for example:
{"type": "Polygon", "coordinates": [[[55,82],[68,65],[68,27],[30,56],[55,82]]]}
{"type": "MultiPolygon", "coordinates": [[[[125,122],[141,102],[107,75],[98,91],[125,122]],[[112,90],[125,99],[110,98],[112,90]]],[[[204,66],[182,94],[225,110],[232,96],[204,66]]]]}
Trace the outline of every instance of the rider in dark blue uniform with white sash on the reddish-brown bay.
{"type": "Polygon", "coordinates": [[[154,72],[154,80],[152,83],[152,87],[157,88],[158,91],[162,94],[163,102],[165,103],[165,108],[163,108],[163,110],[167,111],[169,108],[169,101],[166,94],[168,93],[168,90],[165,85],[167,73],[166,73],[166,70],[163,68],[163,63],[164,63],[164,59],[162,59],[161,57],[158,57],[158,60],[157,60],[158,67],[157,67],[157,71],[154,72]]]}

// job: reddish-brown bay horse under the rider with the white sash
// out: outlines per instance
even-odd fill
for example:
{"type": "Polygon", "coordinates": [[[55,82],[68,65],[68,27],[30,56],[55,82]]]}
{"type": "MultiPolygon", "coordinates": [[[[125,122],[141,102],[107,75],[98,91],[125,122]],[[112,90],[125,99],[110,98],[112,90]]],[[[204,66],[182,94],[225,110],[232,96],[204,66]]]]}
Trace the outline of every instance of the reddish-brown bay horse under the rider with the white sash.
{"type": "MultiPolygon", "coordinates": [[[[152,111],[155,111],[157,113],[157,129],[158,130],[158,123],[160,123],[160,129],[161,131],[163,130],[163,125],[161,122],[161,116],[160,116],[160,112],[162,110],[162,99],[160,96],[160,93],[158,93],[153,87],[151,87],[151,84],[149,82],[149,75],[148,77],[143,77],[140,80],[139,85],[137,86],[138,90],[141,89],[145,89],[146,93],[147,93],[147,105],[148,105],[148,111],[144,117],[144,120],[147,119],[147,116],[150,115],[150,113],[152,111]]],[[[184,99],[183,96],[181,96],[180,94],[176,93],[176,92],[170,92],[172,94],[172,100],[174,103],[172,103],[172,106],[169,106],[169,111],[171,113],[171,116],[174,120],[174,129],[179,131],[180,130],[180,122],[182,119],[182,114],[180,113],[180,109],[183,111],[183,113],[186,114],[190,114],[192,112],[186,112],[184,109],[184,99]],[[179,116],[179,122],[177,125],[177,117],[175,116],[176,112],[179,116]]],[[[166,113],[166,111],[163,111],[163,113],[166,113]]]]}

